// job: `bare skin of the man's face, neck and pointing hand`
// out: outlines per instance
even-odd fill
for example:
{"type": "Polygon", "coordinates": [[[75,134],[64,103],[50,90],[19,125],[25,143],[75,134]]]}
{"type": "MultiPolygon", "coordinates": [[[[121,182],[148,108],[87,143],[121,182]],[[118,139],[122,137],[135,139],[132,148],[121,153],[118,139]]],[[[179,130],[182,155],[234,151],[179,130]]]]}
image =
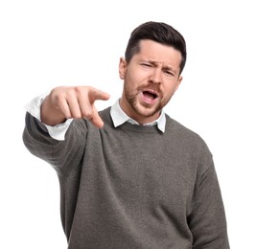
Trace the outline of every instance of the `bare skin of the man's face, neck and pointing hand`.
{"type": "MultiPolygon", "coordinates": [[[[180,52],[152,40],[140,41],[140,52],[127,63],[120,58],[119,76],[124,80],[121,108],[139,124],[156,120],[175,94],[182,77],[180,52]]],[[[86,118],[103,127],[94,102],[106,101],[109,94],[92,86],[54,88],[41,105],[41,121],[56,125],[66,119],[86,118]]]]}

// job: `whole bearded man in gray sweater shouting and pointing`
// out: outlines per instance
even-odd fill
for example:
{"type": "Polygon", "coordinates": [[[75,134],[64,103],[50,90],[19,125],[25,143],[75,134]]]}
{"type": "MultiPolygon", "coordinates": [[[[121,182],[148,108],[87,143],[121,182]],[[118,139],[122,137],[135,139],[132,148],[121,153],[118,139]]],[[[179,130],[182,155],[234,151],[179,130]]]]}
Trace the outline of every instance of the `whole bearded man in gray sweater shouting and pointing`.
{"type": "Polygon", "coordinates": [[[28,106],[23,140],[58,172],[68,248],[229,248],[211,152],[163,107],[182,77],[186,44],[165,23],[130,35],[122,97],[57,87],[28,106]]]}

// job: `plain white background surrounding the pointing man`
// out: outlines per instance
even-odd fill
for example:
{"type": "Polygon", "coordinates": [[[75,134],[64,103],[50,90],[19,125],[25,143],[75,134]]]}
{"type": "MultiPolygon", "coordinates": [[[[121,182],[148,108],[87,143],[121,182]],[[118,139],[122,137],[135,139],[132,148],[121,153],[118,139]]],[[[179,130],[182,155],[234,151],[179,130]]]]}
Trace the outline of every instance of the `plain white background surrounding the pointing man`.
{"type": "Polygon", "coordinates": [[[254,1],[1,1],[0,247],[66,248],[58,177],[22,142],[25,103],[58,85],[120,96],[130,32],[164,21],[187,41],[183,81],[166,107],[206,141],[216,164],[231,248],[256,248],[254,1]]]}

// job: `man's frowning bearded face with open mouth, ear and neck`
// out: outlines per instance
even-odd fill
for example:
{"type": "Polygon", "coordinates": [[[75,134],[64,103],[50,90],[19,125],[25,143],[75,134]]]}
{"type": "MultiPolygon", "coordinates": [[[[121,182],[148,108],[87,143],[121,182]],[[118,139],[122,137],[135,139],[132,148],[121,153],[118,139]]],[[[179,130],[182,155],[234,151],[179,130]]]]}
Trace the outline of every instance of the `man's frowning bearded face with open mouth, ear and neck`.
{"type": "Polygon", "coordinates": [[[124,79],[120,105],[130,118],[146,124],[159,117],[182,80],[180,61],[179,51],[148,39],[140,41],[140,52],[129,63],[120,59],[119,76],[124,79]]]}

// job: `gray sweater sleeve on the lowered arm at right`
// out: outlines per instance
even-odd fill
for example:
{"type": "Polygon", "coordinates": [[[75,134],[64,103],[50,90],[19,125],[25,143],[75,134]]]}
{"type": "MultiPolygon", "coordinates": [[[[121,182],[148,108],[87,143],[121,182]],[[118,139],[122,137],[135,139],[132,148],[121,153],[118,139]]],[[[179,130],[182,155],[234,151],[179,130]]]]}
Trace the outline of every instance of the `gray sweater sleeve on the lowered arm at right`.
{"type": "Polygon", "coordinates": [[[195,204],[188,224],[193,235],[194,249],[229,249],[226,219],[221,189],[211,153],[206,149],[200,155],[195,204]]]}

